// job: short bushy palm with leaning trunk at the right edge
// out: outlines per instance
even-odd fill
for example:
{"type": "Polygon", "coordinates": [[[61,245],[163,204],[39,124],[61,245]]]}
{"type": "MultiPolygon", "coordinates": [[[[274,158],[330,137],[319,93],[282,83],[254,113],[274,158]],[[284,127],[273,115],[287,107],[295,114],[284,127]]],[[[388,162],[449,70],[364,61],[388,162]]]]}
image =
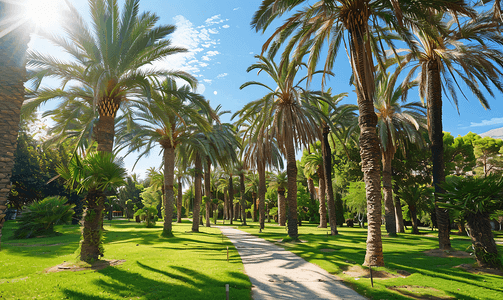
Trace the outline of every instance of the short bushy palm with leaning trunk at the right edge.
{"type": "Polygon", "coordinates": [[[475,257],[480,266],[501,268],[501,259],[491,231],[490,214],[502,208],[503,178],[453,177],[440,197],[445,208],[461,211],[467,221],[475,257]]]}

